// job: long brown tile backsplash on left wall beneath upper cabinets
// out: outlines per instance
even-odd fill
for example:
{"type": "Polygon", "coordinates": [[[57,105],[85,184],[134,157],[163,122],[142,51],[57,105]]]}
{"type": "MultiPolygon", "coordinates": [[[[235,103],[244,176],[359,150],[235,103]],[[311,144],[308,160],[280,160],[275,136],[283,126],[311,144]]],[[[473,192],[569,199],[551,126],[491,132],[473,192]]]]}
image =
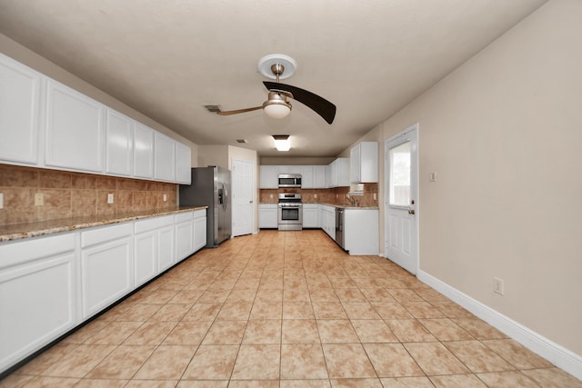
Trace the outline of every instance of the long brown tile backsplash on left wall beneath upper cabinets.
{"type": "Polygon", "coordinates": [[[0,224],[174,207],[177,186],[0,164],[0,193],[4,194],[0,224]],[[43,205],[35,205],[36,194],[42,195],[43,205]],[[107,194],[114,194],[113,204],[107,204],[107,194]]]}

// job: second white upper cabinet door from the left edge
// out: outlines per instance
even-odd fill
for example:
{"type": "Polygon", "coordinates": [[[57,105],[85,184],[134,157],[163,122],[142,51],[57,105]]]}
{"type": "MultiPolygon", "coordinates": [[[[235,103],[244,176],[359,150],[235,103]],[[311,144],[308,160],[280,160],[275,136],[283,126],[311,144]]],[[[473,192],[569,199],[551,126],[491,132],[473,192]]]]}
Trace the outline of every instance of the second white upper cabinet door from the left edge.
{"type": "Polygon", "coordinates": [[[47,83],[45,165],[104,171],[105,107],[53,80],[47,83]]]}

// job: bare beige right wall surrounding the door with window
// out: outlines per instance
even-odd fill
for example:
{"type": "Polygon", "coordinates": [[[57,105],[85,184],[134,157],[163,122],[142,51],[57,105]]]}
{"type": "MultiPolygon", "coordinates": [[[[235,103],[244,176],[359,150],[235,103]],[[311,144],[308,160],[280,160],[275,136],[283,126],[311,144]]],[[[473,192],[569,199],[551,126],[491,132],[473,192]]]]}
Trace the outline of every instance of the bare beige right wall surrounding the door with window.
{"type": "Polygon", "coordinates": [[[420,269],[578,362],[581,15],[550,1],[373,130],[419,123],[420,269]]]}

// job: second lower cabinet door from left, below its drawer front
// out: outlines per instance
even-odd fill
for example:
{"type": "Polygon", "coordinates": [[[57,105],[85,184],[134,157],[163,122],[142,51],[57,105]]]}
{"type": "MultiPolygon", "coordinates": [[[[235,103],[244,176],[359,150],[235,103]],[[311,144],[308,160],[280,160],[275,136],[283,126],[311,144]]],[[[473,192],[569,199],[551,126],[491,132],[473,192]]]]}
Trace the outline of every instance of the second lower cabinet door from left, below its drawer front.
{"type": "Polygon", "coordinates": [[[114,303],[134,286],[133,239],[97,244],[81,251],[83,319],[114,303]]]}

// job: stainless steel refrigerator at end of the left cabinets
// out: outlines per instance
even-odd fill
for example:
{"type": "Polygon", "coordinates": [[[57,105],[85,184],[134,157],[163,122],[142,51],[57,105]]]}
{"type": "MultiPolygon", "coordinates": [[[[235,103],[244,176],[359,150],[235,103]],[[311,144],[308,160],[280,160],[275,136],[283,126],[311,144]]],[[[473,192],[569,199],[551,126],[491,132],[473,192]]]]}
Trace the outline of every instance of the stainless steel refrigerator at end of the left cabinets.
{"type": "Polygon", "coordinates": [[[216,248],[232,234],[230,171],[210,165],[191,174],[192,184],[180,184],[180,206],[208,206],[206,247],[216,248]]]}

